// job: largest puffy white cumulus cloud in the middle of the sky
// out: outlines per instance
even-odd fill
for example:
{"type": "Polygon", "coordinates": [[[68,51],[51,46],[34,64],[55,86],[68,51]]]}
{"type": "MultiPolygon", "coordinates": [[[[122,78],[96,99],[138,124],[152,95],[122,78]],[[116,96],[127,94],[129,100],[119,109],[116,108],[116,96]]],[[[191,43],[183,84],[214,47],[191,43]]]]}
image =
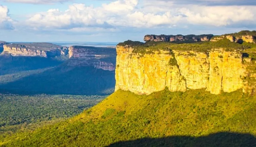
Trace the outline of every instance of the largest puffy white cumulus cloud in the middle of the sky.
{"type": "Polygon", "coordinates": [[[138,9],[138,0],[118,0],[101,7],[72,4],[66,11],[51,9],[33,15],[27,23],[34,28],[73,29],[76,27],[154,27],[162,24],[173,24],[181,16],[170,12],[163,14],[146,13],[138,9]]]}

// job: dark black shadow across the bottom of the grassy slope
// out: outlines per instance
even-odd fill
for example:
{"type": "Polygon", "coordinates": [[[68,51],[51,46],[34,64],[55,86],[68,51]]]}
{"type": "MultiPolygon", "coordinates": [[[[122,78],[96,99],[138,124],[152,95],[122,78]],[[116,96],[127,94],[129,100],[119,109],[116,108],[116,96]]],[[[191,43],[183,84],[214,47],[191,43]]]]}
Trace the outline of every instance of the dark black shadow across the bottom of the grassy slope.
{"type": "Polygon", "coordinates": [[[203,137],[170,136],[118,142],[109,147],[256,147],[251,134],[221,132],[203,137]]]}

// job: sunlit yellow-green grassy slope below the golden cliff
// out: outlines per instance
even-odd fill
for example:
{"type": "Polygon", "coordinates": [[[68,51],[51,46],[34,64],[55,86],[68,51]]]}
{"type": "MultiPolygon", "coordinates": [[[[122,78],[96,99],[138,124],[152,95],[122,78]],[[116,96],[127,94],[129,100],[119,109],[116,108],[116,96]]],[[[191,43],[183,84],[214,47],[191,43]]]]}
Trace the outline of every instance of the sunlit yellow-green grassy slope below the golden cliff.
{"type": "MultiPolygon", "coordinates": [[[[255,115],[256,98],[241,91],[212,95],[203,89],[185,93],[165,90],[139,96],[119,90],[68,121],[0,139],[0,146],[107,146],[145,137],[199,137],[217,132],[256,135],[255,115]]],[[[219,137],[223,135],[216,134],[211,141],[218,142],[219,137]]],[[[236,146],[229,144],[229,139],[227,146],[236,146]]],[[[191,138],[185,137],[175,146],[188,142],[191,138]]]]}

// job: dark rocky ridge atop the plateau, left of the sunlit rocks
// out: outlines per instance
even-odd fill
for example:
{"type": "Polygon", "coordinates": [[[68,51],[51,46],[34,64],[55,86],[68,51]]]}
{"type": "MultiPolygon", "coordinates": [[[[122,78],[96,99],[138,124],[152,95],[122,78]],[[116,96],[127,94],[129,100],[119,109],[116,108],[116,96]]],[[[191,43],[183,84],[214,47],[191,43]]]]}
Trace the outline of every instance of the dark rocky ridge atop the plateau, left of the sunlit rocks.
{"type": "Polygon", "coordinates": [[[163,42],[199,42],[210,41],[212,34],[204,35],[146,35],[144,41],[163,41],[163,42]]]}

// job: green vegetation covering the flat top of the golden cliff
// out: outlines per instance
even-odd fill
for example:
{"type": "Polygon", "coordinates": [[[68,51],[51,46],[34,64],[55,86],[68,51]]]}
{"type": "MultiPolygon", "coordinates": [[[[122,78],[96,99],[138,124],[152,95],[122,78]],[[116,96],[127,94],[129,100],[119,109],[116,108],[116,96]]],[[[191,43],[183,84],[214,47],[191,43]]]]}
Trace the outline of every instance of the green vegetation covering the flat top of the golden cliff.
{"type": "MultiPolygon", "coordinates": [[[[241,31],[239,33],[225,34],[225,35],[252,35],[256,36],[256,31],[241,31]]],[[[231,42],[230,40],[223,38],[218,41],[193,41],[193,40],[184,40],[184,41],[172,41],[172,42],[163,42],[163,41],[132,41],[127,40],[117,45],[120,46],[129,46],[133,47],[135,53],[145,53],[145,50],[183,50],[183,51],[197,51],[197,52],[208,52],[213,48],[224,48],[227,51],[234,50],[246,50],[256,48],[256,43],[237,43],[231,42]]],[[[147,52],[149,53],[149,52],[147,52]]]]}

